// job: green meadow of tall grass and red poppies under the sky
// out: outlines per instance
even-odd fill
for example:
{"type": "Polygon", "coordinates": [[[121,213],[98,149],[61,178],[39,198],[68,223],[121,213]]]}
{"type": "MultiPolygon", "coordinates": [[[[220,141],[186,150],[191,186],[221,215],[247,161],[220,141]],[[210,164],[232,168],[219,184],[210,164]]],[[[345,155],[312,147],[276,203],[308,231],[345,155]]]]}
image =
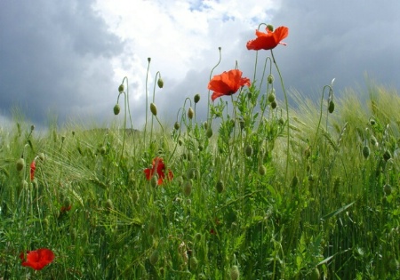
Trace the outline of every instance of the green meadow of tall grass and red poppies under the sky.
{"type": "Polygon", "coordinates": [[[39,134],[15,116],[0,131],[2,279],[400,278],[400,96],[372,81],[287,92],[281,39],[254,52],[260,81],[215,65],[174,124],[157,75],[140,130],[125,78],[114,127],[39,134]],[[51,260],[29,259],[41,248],[51,260]]]}

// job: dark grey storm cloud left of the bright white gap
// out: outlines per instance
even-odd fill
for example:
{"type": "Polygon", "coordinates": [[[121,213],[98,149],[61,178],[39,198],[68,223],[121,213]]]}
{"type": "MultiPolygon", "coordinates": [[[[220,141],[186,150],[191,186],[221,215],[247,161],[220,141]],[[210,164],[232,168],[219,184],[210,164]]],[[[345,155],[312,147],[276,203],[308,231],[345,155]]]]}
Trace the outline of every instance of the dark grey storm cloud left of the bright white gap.
{"type": "MultiPolygon", "coordinates": [[[[63,120],[114,86],[110,58],[124,43],[92,11],[92,1],[0,3],[0,107],[33,122],[48,110],[63,120]]],[[[95,110],[96,108],[92,108],[95,110]]]]}

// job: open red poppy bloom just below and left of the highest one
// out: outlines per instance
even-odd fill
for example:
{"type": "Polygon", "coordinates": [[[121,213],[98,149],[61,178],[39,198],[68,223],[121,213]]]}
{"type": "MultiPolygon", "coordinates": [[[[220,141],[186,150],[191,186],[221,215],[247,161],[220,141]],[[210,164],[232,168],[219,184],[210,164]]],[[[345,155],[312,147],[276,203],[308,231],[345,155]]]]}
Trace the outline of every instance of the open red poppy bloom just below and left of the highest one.
{"type": "Polygon", "coordinates": [[[213,76],[208,83],[208,89],[214,91],[212,93],[212,101],[223,95],[232,95],[236,93],[240,87],[250,86],[250,79],[242,77],[242,71],[238,69],[229,70],[220,75],[213,76]]]}

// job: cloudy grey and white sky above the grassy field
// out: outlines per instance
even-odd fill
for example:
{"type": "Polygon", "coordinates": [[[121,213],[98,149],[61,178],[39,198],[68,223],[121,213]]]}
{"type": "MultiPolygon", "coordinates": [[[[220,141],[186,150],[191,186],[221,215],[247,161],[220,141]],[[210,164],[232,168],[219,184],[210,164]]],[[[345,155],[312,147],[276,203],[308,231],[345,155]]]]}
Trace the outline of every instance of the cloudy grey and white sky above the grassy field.
{"type": "MultiPolygon", "coordinates": [[[[171,122],[185,98],[207,106],[210,70],[252,78],[245,44],[262,22],[289,28],[274,50],[286,87],[305,95],[335,80],[336,92],[377,83],[400,88],[398,0],[2,0],[0,126],[15,108],[28,122],[108,124],[127,76],[135,128],[145,119],[146,73],[158,114],[171,122]],[[362,3],[362,4],[361,4],[362,3]]],[[[269,52],[259,52],[264,60],[269,52]]],[[[259,69],[260,72],[260,69],[259,69]]],[[[124,108],[124,107],[123,107],[124,108]]],[[[122,118],[122,116],[118,116],[122,118]]]]}

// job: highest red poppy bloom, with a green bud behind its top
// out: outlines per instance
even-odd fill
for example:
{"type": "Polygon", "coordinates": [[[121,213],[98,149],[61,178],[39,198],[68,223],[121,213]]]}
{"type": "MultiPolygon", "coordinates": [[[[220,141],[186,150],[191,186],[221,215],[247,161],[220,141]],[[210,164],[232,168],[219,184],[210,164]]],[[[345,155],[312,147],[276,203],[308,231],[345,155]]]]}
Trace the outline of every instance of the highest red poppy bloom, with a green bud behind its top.
{"type": "Polygon", "coordinates": [[[281,41],[289,35],[289,28],[279,27],[276,28],[275,31],[270,31],[268,28],[266,28],[266,30],[267,33],[256,30],[257,38],[247,42],[247,50],[272,50],[278,44],[286,45],[281,41]]]}

